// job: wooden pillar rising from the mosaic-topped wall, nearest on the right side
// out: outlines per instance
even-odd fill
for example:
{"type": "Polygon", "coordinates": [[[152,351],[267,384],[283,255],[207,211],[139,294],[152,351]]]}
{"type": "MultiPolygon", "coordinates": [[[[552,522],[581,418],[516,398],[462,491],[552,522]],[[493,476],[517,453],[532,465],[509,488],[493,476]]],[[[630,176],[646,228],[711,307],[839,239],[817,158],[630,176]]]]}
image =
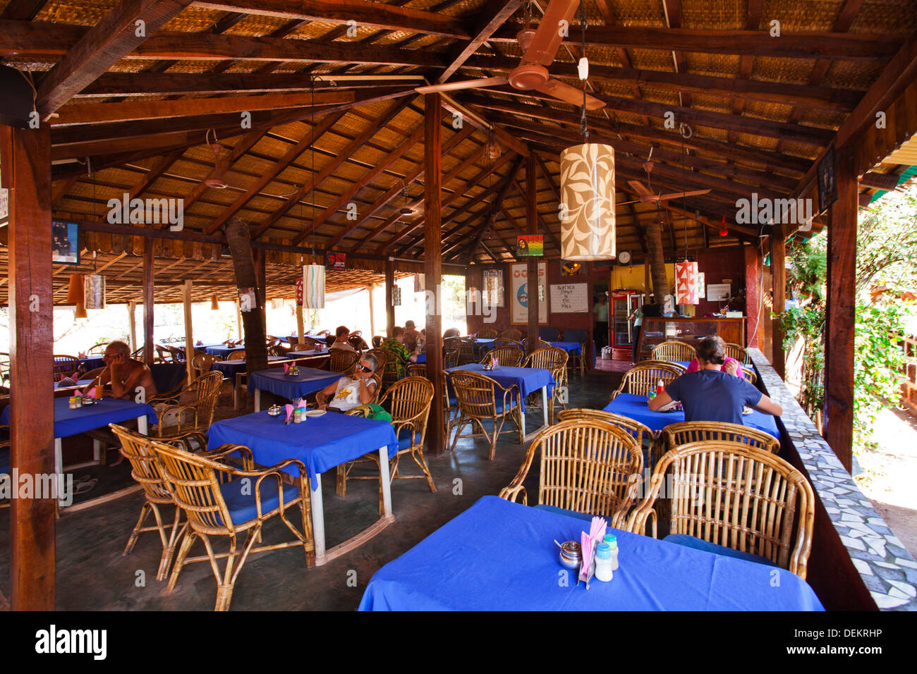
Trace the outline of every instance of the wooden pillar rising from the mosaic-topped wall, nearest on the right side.
{"type": "Polygon", "coordinates": [[[846,470],[853,461],[856,209],[854,152],[837,150],[837,201],[828,225],[823,436],[846,470]]]}

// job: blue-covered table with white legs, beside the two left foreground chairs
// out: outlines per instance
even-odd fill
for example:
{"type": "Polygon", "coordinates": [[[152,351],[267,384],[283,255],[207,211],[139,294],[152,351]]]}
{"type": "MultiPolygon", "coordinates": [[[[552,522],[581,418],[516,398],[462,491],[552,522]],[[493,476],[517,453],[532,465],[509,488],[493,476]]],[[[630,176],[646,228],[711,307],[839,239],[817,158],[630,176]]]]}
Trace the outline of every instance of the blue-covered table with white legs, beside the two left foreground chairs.
{"type": "MultiPolygon", "coordinates": [[[[318,414],[318,411],[310,411],[310,414],[318,414]]],[[[394,521],[388,466],[389,459],[398,451],[398,438],[392,424],[379,419],[334,412],[306,416],[305,421],[299,424],[286,424],[285,418],[284,414],[272,417],[265,411],[218,421],[207,431],[207,448],[214,449],[227,443],[244,445],[249,447],[257,463],[268,467],[284,459],[298,459],[304,463],[312,491],[315,566],[321,566],[359,547],[394,521]],[[379,452],[382,467],[380,517],[356,536],[326,549],[322,473],[374,451],[379,452]]],[[[295,466],[283,470],[299,475],[295,466]]]]}

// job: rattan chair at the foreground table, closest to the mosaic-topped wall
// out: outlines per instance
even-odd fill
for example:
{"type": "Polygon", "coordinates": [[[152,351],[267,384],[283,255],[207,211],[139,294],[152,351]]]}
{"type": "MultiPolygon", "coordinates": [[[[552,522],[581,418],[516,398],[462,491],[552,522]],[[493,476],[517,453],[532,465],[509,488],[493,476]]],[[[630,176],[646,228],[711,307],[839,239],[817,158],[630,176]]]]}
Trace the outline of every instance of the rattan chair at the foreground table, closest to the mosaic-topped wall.
{"type": "Polygon", "coordinates": [[[646,498],[627,521],[629,531],[644,534],[652,519],[656,536],[653,505],[663,482],[671,485],[669,536],[757,555],[805,579],[815,499],[809,482],[785,460],[735,442],[672,449],[659,459],[646,498]]]}

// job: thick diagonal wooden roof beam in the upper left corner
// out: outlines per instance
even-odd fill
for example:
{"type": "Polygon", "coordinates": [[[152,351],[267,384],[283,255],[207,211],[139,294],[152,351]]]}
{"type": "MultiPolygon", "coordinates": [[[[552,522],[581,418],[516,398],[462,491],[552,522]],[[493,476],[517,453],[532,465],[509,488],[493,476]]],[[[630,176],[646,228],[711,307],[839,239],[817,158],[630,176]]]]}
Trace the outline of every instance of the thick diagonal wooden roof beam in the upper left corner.
{"type": "MultiPolygon", "coordinates": [[[[89,28],[41,78],[36,98],[41,117],[50,116],[190,4],[190,0],[126,0],[119,3],[89,28]],[[138,21],[145,28],[143,37],[138,37],[141,32],[138,21]]],[[[39,28],[44,26],[48,24],[43,23],[39,28]]]]}

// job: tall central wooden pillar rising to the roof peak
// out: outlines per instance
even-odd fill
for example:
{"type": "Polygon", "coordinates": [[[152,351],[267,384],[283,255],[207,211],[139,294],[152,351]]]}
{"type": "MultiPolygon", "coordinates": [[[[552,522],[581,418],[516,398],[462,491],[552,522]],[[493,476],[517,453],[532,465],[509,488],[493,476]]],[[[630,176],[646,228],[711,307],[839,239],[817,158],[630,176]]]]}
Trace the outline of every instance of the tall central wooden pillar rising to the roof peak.
{"type": "MultiPolygon", "coordinates": [[[[443,330],[440,312],[440,296],[443,273],[442,258],[442,213],[440,203],[440,182],[442,181],[440,124],[442,100],[439,94],[424,96],[424,282],[427,293],[434,293],[434,301],[428,302],[426,315],[426,375],[433,381],[433,404],[430,419],[426,425],[427,448],[431,454],[441,454],[446,438],[443,437],[443,391],[446,385],[443,375],[443,330]]],[[[392,264],[392,260],[388,262],[392,264]]],[[[389,278],[386,267],[386,279],[389,278]]],[[[394,271],[392,270],[392,282],[394,271]]],[[[391,285],[391,283],[387,283],[391,285]]],[[[429,296],[429,295],[427,295],[429,296]]],[[[392,324],[394,309],[392,308],[392,324]]]]}

